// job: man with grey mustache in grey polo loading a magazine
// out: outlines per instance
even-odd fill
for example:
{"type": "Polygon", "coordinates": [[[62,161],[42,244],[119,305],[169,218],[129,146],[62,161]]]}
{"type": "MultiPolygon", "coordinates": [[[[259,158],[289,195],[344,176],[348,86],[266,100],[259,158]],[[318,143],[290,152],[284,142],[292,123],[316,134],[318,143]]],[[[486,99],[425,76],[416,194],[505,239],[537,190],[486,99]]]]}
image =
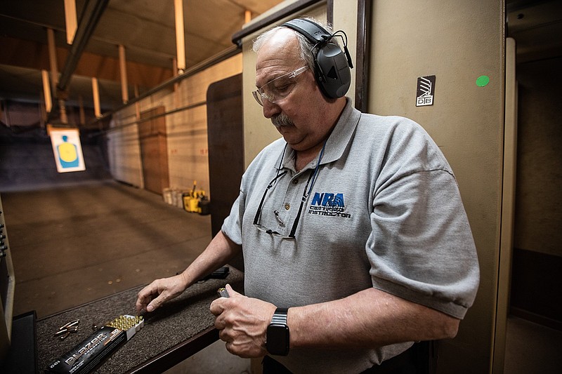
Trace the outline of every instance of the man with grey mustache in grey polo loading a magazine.
{"type": "Polygon", "coordinates": [[[317,44],[311,34],[334,35],[293,20],[256,40],[254,98],[282,139],[244,173],[207,249],[141,290],[137,308],[151,312],[243,251],[246,296],[227,286],[230,298],[211,304],[229,352],[268,354],[266,373],[279,363],[377,373],[413,342],[456,335],[478,260],[437,145],[417,123],[362,114],[324,86],[315,59],[333,38],[317,44]]]}

